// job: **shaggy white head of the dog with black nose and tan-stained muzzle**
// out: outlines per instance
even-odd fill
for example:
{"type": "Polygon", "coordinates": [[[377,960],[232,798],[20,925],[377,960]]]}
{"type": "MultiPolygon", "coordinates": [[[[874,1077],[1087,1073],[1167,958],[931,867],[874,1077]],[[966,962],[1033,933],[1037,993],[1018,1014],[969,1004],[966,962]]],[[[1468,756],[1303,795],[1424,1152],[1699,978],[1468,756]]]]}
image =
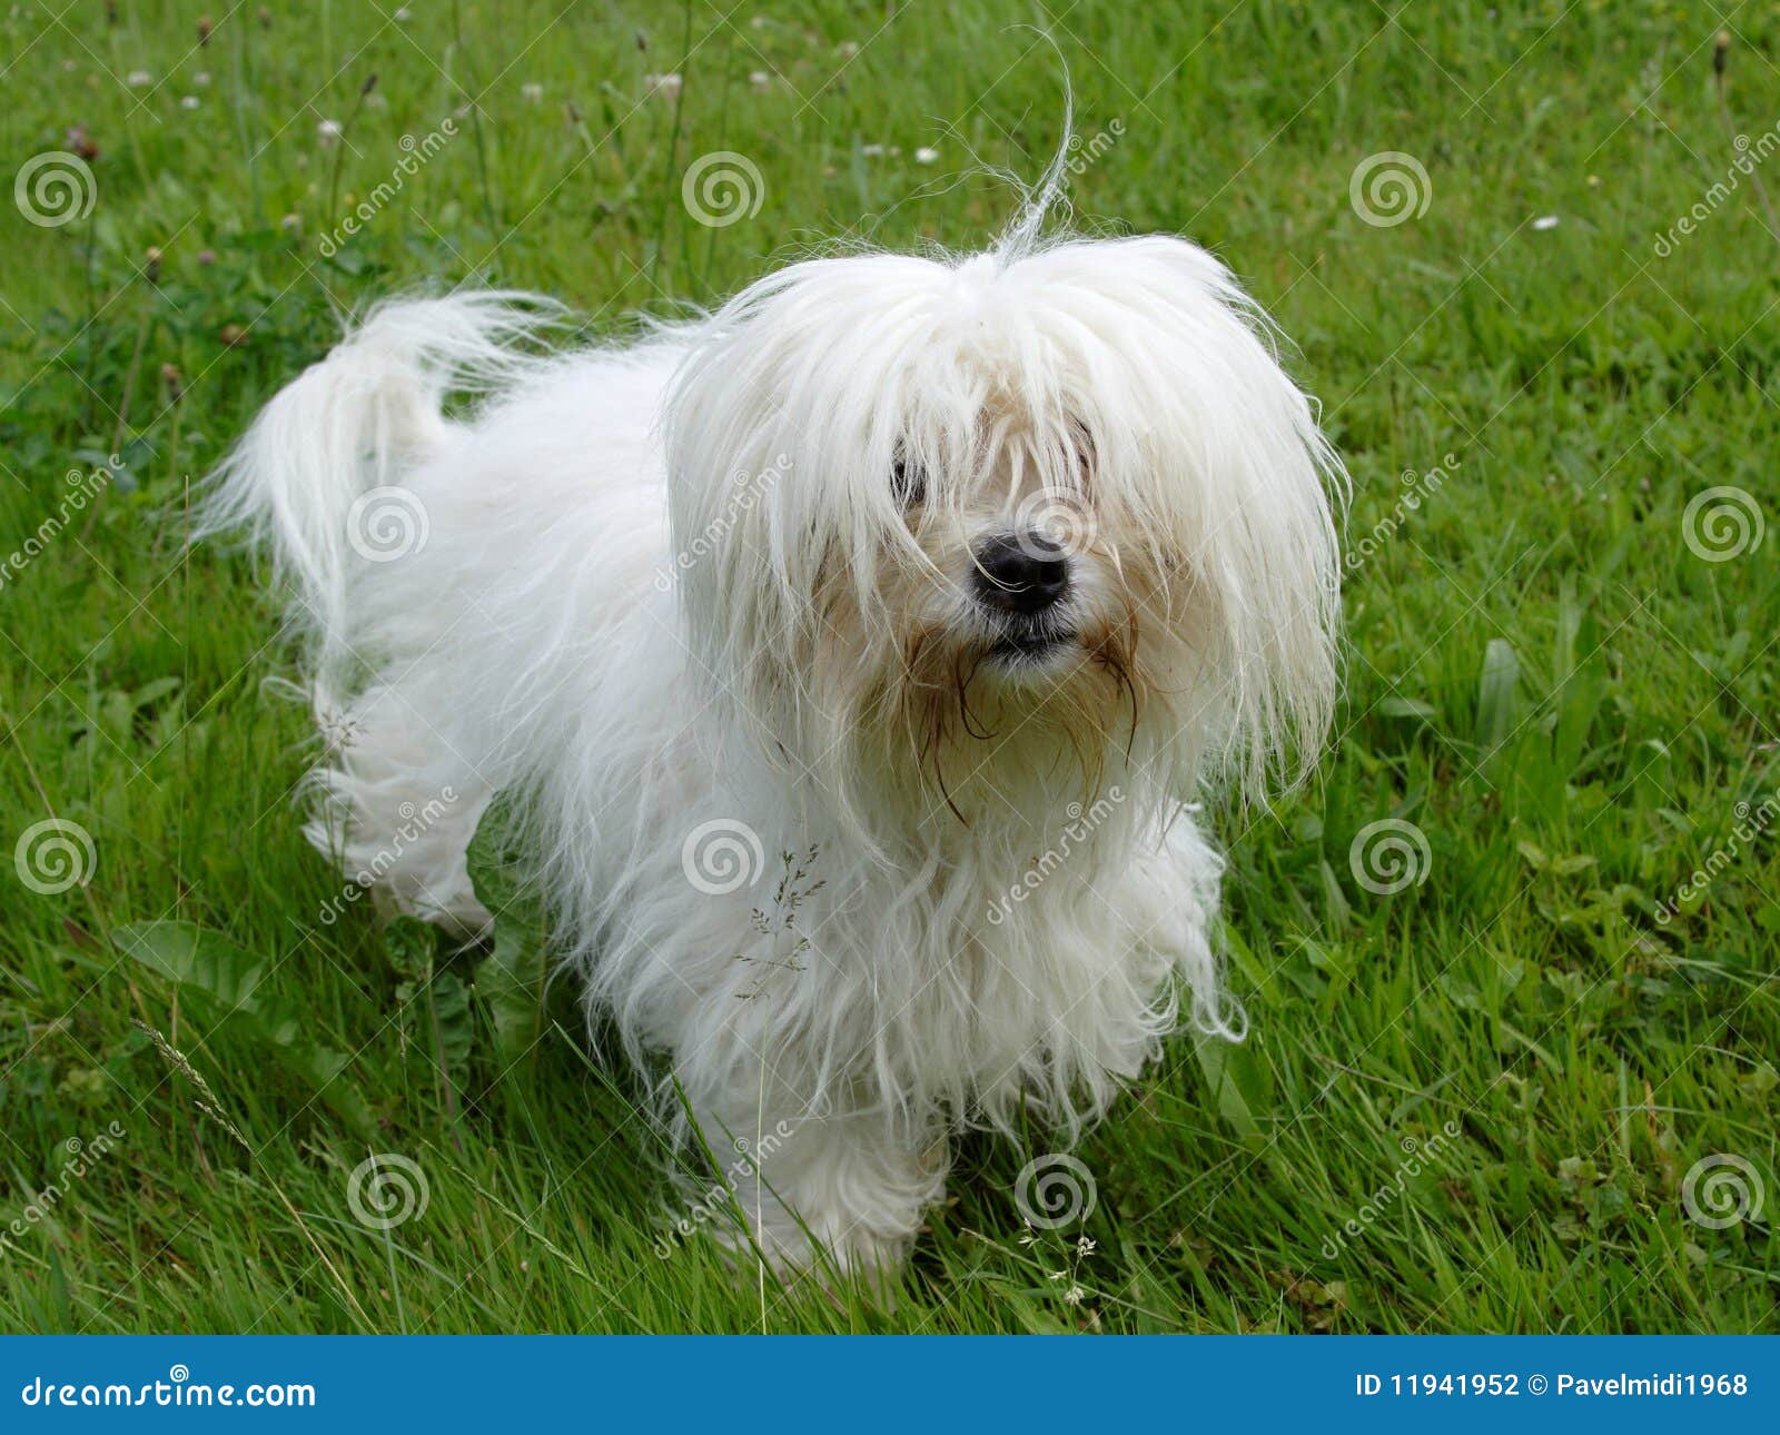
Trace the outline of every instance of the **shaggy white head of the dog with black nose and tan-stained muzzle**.
{"type": "Polygon", "coordinates": [[[799,767],[1184,798],[1321,742],[1340,465],[1193,244],[797,263],[700,331],[668,461],[692,650],[799,767]]]}

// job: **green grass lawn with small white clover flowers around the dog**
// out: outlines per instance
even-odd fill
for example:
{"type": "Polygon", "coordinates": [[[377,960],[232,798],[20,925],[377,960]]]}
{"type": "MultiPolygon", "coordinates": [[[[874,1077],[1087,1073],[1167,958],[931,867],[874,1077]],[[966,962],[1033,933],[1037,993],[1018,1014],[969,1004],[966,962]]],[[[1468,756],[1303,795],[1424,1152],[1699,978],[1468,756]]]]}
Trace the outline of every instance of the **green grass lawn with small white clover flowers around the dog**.
{"type": "Polygon", "coordinates": [[[1748,176],[1705,198],[1737,153],[1714,34],[1762,135],[1769,11],[212,5],[199,48],[198,4],[59,9],[0,18],[0,134],[18,166],[85,126],[98,192],[61,228],[0,212],[0,557],[69,470],[117,454],[125,477],[0,584],[0,839],[55,815],[96,851],[53,896],[0,863],[5,1328],[1780,1326],[1780,847],[1737,835],[1780,762],[1780,534],[1721,563],[1684,541],[1714,486],[1780,523],[1780,244],[1748,176]],[[618,333],[829,237],[984,240],[1013,205],[988,169],[1036,176],[1057,139],[1057,61],[1024,25],[1061,45],[1084,139],[1123,130],[1075,180],[1080,219],[1187,233],[1246,278],[1353,468],[1353,541],[1383,529],[1347,584],[1321,776],[1219,819],[1248,1043],[1175,1042],[1086,1139],[1084,1225],[1024,1244],[1015,1179],[1054,1143],[972,1139],[894,1300],[781,1291],[703,1241],[655,1253],[673,1196],[630,1075],[568,1034],[504,1066],[461,967],[363,904],[317,920],[338,883],[297,833],[304,718],[265,687],[290,645],[244,561],[185,555],[157,515],[324,351],[331,310],[393,287],[545,288],[618,333]],[[651,71],[684,75],[678,103],[644,98],[651,71]],[[322,260],[399,137],[468,96],[322,260]],[[319,121],[349,118],[326,148],[319,121]],[[680,176],[717,150],[765,196],[705,228],[680,176]],[[1431,198],[1378,228],[1349,176],[1387,150],[1431,198]],[[1436,491],[1401,482],[1447,454],[1436,491]],[[1388,817],[1429,860],[1381,896],[1349,846],[1388,817]],[[176,981],[114,944],[155,919],[235,949],[176,981]],[[347,1200],[372,1152],[427,1182],[388,1232],[347,1200]],[[1689,1218],[1712,1154],[1746,1163],[1759,1214],[1689,1218]]]}

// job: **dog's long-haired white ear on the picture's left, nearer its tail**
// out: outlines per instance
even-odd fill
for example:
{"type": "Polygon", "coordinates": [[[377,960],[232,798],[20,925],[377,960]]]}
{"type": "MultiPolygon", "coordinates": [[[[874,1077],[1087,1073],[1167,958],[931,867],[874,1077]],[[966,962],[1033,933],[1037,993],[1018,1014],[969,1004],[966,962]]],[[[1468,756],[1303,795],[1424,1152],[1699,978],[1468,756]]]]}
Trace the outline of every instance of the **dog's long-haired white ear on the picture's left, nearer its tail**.
{"type": "MultiPolygon", "coordinates": [[[[913,550],[908,507],[929,470],[918,443],[899,443],[899,385],[931,345],[926,319],[886,310],[899,294],[931,299],[945,272],[897,255],[810,260],[680,331],[664,450],[675,552],[691,554],[675,564],[682,625],[726,700],[780,728],[774,742],[826,721],[808,693],[831,639],[824,593],[847,584],[862,621],[881,618],[883,548],[913,550]]],[[[808,741],[821,751],[833,734],[808,741]]]]}

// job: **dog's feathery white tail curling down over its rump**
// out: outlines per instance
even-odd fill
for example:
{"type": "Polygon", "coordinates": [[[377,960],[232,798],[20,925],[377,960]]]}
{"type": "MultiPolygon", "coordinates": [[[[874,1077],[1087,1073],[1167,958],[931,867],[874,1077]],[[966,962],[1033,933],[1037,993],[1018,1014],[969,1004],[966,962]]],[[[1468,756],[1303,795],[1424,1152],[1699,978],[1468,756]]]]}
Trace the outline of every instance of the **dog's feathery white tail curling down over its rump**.
{"type": "Polygon", "coordinates": [[[347,643],[354,566],[425,522],[402,481],[447,442],[447,393],[506,388],[539,360],[545,299],[509,292],[395,299],[262,409],[210,479],[198,536],[246,531],[271,548],[326,671],[347,643]]]}

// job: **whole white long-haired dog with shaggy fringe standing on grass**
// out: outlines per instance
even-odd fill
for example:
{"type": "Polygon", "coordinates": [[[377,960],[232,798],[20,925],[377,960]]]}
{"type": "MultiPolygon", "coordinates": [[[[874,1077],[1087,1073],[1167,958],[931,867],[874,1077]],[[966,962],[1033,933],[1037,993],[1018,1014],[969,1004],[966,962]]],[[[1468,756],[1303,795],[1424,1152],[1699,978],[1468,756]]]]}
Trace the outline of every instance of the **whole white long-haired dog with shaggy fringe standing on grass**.
{"type": "Polygon", "coordinates": [[[1235,1034],[1196,798],[1337,689],[1344,477],[1267,320],[1185,240],[1034,230],[555,358],[523,296],[392,303],[214,495],[313,637],[312,840],[475,935],[518,794],[589,1015],[712,1148],[774,1132],[787,1266],[894,1262],[951,1131],[1235,1034]]]}

